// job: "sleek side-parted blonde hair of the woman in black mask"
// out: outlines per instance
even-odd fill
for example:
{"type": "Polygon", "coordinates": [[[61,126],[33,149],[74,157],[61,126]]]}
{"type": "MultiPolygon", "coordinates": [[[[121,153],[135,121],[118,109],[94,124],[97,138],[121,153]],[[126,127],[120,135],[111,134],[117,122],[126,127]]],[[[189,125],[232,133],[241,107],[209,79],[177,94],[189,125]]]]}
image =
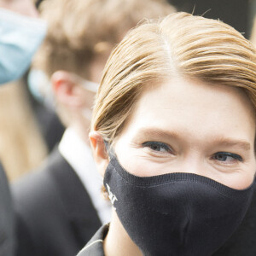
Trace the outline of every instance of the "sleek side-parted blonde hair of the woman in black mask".
{"type": "Polygon", "coordinates": [[[173,76],[239,87],[256,108],[255,54],[253,44],[220,20],[186,13],[149,20],[129,32],[110,55],[91,130],[113,143],[144,86],[173,76]]]}

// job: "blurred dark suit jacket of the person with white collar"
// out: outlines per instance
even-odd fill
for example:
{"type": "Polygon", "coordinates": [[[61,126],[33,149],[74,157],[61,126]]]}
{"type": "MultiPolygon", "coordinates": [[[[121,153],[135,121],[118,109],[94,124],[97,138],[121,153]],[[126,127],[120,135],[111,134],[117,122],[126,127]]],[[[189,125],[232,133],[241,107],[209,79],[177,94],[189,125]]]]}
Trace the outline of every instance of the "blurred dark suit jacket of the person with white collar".
{"type": "Polygon", "coordinates": [[[101,226],[77,174],[58,150],[12,186],[17,256],[73,256],[101,226]]]}

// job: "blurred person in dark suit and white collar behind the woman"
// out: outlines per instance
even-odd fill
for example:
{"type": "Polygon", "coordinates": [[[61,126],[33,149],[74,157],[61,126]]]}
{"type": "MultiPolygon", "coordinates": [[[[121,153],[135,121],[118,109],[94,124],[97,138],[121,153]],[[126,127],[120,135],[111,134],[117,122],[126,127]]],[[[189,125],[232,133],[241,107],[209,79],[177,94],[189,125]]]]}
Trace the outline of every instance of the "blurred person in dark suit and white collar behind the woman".
{"type": "Polygon", "coordinates": [[[74,255],[108,223],[110,206],[101,199],[102,178],[88,138],[97,83],[110,51],[125,32],[143,18],[173,11],[165,0],[42,3],[49,31],[33,68],[46,77],[43,86],[52,86],[53,105],[67,130],[44,166],[12,186],[16,255],[74,255]]]}

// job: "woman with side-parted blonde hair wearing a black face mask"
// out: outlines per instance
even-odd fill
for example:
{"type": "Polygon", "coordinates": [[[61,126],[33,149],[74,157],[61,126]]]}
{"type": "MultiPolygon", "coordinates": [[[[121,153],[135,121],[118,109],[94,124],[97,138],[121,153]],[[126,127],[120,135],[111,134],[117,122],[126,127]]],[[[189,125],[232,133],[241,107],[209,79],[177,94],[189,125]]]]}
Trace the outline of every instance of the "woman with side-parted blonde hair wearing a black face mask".
{"type": "Polygon", "coordinates": [[[229,239],[254,189],[255,60],[233,27],[187,13],[125,36],[90,131],[112,219],[79,256],[210,256],[229,239]]]}

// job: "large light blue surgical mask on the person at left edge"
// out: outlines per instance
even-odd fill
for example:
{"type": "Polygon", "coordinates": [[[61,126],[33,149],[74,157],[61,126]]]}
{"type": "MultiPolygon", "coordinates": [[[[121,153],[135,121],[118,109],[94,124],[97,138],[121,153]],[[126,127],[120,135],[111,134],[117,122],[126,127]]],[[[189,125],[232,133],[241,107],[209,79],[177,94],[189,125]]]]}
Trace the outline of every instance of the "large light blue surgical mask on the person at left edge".
{"type": "Polygon", "coordinates": [[[0,84],[26,72],[46,31],[44,20],[0,9],[0,84]]]}

